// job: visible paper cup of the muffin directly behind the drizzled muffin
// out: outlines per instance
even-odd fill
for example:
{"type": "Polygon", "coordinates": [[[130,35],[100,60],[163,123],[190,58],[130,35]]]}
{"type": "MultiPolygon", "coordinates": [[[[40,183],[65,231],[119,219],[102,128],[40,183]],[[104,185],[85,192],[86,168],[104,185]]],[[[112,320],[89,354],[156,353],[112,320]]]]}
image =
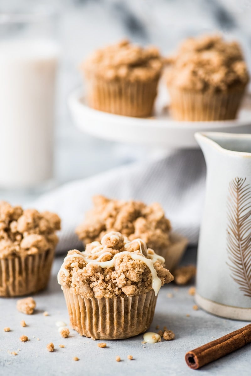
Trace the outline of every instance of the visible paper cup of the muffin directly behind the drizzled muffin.
{"type": "Polygon", "coordinates": [[[165,267],[172,272],[183,257],[187,248],[188,240],[187,238],[172,232],[170,234],[170,241],[171,244],[167,248],[158,250],[158,255],[165,259],[165,267]]]}

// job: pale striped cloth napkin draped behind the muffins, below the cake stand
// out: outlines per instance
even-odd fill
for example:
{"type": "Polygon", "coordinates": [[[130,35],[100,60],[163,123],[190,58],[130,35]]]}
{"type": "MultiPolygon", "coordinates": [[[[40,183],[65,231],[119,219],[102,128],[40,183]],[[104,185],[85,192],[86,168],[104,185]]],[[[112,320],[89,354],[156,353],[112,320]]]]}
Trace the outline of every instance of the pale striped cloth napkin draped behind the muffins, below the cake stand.
{"type": "Polygon", "coordinates": [[[62,219],[57,252],[80,249],[75,228],[92,207],[92,196],[159,202],[175,232],[197,244],[204,200],[206,165],[200,150],[178,150],[162,159],[135,162],[76,180],[33,202],[38,210],[56,212],[62,219]]]}

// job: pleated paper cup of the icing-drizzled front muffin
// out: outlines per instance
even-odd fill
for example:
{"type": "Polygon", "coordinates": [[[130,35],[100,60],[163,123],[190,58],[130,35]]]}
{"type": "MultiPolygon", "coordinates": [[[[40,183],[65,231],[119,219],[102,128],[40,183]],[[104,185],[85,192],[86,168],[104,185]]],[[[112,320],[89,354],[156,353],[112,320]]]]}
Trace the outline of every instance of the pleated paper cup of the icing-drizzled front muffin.
{"type": "Polygon", "coordinates": [[[63,287],[70,324],[79,334],[98,340],[119,340],[144,333],[153,320],[157,296],[87,299],[63,287]]]}

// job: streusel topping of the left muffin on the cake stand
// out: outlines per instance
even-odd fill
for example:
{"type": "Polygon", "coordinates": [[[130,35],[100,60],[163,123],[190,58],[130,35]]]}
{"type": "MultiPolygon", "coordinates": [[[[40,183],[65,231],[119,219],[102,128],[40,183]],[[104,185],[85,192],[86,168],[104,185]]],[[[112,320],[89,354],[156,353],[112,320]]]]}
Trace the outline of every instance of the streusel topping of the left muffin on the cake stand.
{"type": "Polygon", "coordinates": [[[123,40],[96,50],[82,63],[81,68],[87,78],[94,75],[107,81],[147,81],[159,78],[163,62],[156,47],[142,48],[123,40]]]}

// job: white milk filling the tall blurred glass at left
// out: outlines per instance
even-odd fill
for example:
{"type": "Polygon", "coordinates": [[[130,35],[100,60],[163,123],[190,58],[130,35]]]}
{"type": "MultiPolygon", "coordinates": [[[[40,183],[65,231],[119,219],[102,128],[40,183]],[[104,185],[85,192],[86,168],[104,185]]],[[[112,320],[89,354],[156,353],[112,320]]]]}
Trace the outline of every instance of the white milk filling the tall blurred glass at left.
{"type": "Polygon", "coordinates": [[[0,42],[0,188],[26,188],[53,173],[57,47],[0,42]]]}

